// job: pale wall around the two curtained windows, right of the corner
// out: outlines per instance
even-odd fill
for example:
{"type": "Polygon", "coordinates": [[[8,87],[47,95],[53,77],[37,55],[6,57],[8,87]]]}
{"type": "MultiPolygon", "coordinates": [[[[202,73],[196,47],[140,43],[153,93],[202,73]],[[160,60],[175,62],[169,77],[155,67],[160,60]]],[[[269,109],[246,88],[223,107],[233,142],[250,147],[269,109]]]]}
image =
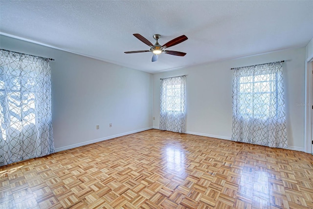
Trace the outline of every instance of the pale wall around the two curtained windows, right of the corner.
{"type": "Polygon", "coordinates": [[[305,95],[305,57],[306,49],[302,47],[154,74],[153,125],[156,128],[159,126],[160,78],[187,74],[187,133],[230,139],[232,125],[230,68],[285,60],[283,75],[288,145],[291,149],[303,151],[304,106],[301,104],[304,104],[305,95]]]}

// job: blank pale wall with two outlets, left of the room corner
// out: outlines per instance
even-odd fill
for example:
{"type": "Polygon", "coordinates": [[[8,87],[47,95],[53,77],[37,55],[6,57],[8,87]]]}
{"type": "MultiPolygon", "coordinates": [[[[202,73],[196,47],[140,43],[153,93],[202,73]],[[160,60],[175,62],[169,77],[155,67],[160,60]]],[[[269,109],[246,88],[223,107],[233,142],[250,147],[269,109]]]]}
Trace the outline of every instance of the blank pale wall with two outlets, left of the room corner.
{"type": "Polygon", "coordinates": [[[57,151],[152,127],[151,74],[6,36],[0,36],[0,48],[55,59],[51,83],[57,151]]]}

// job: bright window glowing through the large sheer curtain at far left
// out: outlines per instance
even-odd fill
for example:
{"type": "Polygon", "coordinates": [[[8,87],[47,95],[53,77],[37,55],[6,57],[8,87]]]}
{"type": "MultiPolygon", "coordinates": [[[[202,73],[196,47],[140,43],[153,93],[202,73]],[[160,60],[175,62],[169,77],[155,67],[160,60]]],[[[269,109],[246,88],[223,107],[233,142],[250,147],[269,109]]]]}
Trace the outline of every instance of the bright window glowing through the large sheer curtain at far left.
{"type": "MultiPolygon", "coordinates": [[[[25,66],[23,70],[28,71],[29,68],[25,66]]],[[[22,126],[36,124],[35,87],[31,76],[21,75],[20,70],[12,71],[7,66],[0,66],[1,133],[5,133],[5,126],[21,131],[22,126]]],[[[2,135],[4,140],[6,136],[2,135]]]]}

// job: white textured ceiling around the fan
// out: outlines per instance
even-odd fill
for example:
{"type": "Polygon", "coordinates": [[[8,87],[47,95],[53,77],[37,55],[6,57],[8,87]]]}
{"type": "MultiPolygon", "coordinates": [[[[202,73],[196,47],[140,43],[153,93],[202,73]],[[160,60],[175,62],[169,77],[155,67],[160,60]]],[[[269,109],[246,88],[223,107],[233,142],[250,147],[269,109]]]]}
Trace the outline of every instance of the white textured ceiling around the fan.
{"type": "Polygon", "coordinates": [[[156,73],[203,63],[302,47],[313,38],[313,0],[91,1],[0,0],[0,34],[40,42],[109,63],[156,73]],[[132,34],[160,44],[188,40],[152,53],[132,34]]]}

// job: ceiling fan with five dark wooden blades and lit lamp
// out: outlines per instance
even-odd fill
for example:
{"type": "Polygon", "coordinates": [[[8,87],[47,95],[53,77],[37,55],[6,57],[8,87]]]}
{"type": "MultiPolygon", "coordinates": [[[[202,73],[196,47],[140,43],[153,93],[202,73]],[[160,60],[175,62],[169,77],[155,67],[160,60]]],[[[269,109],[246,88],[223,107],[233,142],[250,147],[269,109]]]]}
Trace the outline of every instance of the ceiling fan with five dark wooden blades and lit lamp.
{"type": "Polygon", "coordinates": [[[158,55],[161,53],[166,53],[166,54],[170,54],[170,55],[175,55],[175,56],[185,56],[186,53],[184,52],[178,52],[178,51],[169,51],[169,50],[165,50],[168,47],[174,46],[176,44],[179,44],[181,42],[186,41],[188,38],[185,35],[179,36],[163,45],[160,45],[157,41],[159,38],[161,38],[161,35],[159,34],[155,34],[153,35],[153,38],[156,40],[155,44],[152,44],[151,42],[149,42],[146,38],[144,38],[143,36],[141,36],[138,33],[133,34],[134,37],[136,37],[137,39],[139,39],[141,42],[144,42],[145,44],[147,44],[148,46],[150,46],[150,50],[142,50],[142,51],[129,51],[129,52],[124,52],[126,54],[131,54],[131,53],[139,53],[139,52],[152,52],[153,56],[152,56],[152,62],[156,62],[158,55]]]}

